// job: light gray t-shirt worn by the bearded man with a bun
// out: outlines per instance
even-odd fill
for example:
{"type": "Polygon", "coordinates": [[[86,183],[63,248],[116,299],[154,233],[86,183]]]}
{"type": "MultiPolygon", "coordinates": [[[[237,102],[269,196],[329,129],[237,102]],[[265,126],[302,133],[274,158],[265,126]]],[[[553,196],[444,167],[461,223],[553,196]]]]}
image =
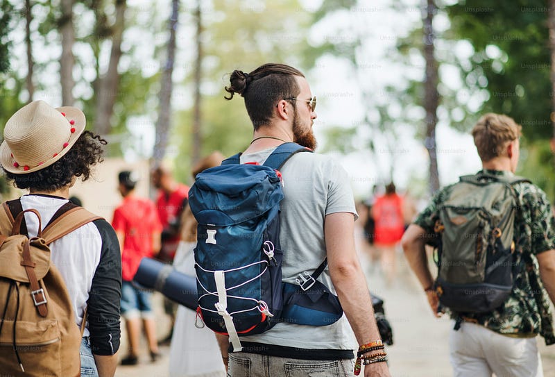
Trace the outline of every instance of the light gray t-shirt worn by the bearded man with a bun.
{"type": "MultiPolygon", "coordinates": [[[[275,148],[241,155],[241,163],[266,161],[275,148]]],[[[281,203],[280,244],[283,249],[282,280],[295,284],[303,271],[312,274],[326,257],[324,219],[336,212],[358,218],[345,169],[332,158],[316,153],[297,153],[280,170],[284,199],[281,203]]],[[[326,268],[318,278],[335,293],[326,268]]],[[[302,349],[357,349],[355,334],[343,317],[330,326],[280,323],[241,341],[302,349]]]]}

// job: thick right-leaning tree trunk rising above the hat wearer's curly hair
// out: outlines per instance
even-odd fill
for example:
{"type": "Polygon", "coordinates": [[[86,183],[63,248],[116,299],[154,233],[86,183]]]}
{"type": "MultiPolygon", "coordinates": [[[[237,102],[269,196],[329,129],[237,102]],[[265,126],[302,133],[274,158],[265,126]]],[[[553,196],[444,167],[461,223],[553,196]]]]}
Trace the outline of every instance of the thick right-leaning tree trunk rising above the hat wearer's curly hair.
{"type": "Polygon", "coordinates": [[[96,119],[94,131],[99,135],[108,135],[112,129],[110,119],[114,113],[114,103],[117,99],[119,73],[117,66],[121,58],[121,39],[125,28],[126,0],[116,1],[116,20],[112,26],[112,51],[108,71],[101,78],[99,92],[96,93],[96,119]]]}

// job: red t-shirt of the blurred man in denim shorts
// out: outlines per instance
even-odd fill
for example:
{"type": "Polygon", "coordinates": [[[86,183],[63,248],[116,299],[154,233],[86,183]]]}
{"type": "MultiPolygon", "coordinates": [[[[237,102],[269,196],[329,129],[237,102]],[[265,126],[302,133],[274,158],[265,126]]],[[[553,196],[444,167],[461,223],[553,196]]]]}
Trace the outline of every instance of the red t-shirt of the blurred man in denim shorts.
{"type": "Polygon", "coordinates": [[[121,250],[122,278],[133,280],[141,259],[153,256],[153,233],[162,232],[154,203],[137,196],[123,198],[123,203],[114,211],[112,226],[125,235],[121,250]]]}

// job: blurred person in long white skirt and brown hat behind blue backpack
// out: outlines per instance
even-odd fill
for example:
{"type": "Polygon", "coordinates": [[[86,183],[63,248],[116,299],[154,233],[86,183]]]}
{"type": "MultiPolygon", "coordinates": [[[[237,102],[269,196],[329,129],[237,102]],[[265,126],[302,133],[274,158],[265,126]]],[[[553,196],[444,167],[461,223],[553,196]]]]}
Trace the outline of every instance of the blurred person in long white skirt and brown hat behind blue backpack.
{"type": "MultiPolygon", "coordinates": [[[[193,177],[205,169],[220,165],[223,158],[219,151],[206,156],[193,167],[193,177]]],[[[197,222],[189,206],[183,210],[180,224],[180,242],[173,267],[182,274],[195,276],[193,249],[196,246],[197,222]]],[[[169,351],[170,377],[225,376],[214,333],[207,327],[197,328],[195,324],[196,311],[179,305],[169,351]]]]}

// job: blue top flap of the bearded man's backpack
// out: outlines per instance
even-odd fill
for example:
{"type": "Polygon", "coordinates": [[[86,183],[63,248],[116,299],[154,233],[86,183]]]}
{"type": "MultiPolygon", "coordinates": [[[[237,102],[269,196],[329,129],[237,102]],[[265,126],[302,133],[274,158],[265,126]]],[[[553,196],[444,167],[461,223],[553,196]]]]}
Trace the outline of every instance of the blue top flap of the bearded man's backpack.
{"type": "Polygon", "coordinates": [[[264,165],[212,167],[196,176],[189,206],[199,224],[239,224],[280,203],[280,181],[277,171],[264,165]]]}

